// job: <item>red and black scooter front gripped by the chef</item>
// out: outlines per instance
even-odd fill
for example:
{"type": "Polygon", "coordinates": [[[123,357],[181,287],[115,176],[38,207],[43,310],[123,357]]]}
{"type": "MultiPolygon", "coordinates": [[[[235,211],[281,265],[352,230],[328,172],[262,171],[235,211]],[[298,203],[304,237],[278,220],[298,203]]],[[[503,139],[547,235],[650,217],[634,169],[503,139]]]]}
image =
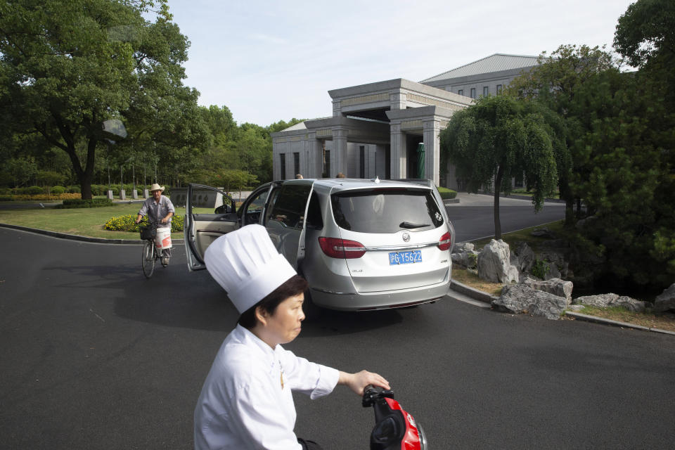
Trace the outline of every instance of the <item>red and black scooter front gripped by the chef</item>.
{"type": "Polygon", "coordinates": [[[394,391],[368,385],[363,405],[375,409],[371,450],[429,450],[422,427],[394,400],[394,391]]]}

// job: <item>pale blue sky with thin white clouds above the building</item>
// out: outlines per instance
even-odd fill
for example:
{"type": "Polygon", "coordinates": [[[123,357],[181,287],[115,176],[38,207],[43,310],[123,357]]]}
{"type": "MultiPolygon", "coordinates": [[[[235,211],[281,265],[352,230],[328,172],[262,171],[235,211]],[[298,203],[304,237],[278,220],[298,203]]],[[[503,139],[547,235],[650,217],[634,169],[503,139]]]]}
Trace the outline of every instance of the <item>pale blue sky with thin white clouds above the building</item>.
{"type": "Polygon", "coordinates": [[[169,0],[187,86],[238,123],[328,117],[328,91],[420,81],[493,53],[608,45],[631,0],[169,0]]]}

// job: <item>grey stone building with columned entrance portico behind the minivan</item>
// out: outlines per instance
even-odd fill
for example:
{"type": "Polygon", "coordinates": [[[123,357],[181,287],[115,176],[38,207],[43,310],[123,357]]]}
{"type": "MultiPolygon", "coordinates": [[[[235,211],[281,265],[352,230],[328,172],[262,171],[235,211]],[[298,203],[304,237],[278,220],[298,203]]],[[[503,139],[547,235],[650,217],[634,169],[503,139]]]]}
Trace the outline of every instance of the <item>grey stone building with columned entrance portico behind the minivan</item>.
{"type": "Polygon", "coordinates": [[[272,134],[274,179],[424,178],[462,188],[454,167],[440,179],[439,133],[474,98],[495,95],[536,65],[534,56],[496,53],[422,82],[391,79],[328,91],[333,117],[272,134]],[[424,144],[423,158],[418,144],[424,144]]]}

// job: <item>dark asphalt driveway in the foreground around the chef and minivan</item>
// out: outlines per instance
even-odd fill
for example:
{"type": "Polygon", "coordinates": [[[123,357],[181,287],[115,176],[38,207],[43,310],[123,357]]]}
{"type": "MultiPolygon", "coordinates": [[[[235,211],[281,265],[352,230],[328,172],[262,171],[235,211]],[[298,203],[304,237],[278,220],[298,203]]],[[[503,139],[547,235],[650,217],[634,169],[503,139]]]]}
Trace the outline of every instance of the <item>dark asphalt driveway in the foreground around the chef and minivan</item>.
{"type": "MultiPolygon", "coordinates": [[[[458,226],[456,222],[456,226],[458,226]]],[[[0,449],[187,449],[236,312],[183,248],[146,280],[137,245],[0,229],[0,449]]],[[[433,449],[653,449],[675,439],[675,338],[513,316],[453,300],[310,317],[288,345],[368,368],[433,449]]],[[[297,434],[366,449],[373,414],[345,387],[296,396],[297,434]]]]}

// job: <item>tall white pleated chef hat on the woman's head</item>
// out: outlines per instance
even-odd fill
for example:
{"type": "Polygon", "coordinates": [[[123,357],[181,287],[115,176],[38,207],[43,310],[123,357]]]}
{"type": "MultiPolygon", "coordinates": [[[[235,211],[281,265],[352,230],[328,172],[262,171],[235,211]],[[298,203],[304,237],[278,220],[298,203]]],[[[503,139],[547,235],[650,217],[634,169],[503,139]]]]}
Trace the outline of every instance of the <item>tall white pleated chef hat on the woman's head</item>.
{"type": "Polygon", "coordinates": [[[204,262],[239,314],[296,275],[261,225],[247,225],[217,238],[206,249],[204,262]]]}

